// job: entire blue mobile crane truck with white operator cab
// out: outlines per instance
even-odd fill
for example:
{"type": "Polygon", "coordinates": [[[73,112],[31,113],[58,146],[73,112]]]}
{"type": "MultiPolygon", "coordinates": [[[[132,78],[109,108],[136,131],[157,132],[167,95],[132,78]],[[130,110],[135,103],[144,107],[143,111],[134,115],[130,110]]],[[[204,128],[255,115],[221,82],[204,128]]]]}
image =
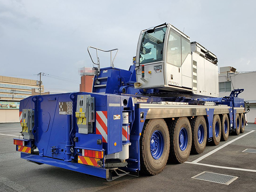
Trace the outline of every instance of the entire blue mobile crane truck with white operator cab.
{"type": "MultiPolygon", "coordinates": [[[[94,62],[90,50],[95,49],[94,62]]],[[[140,34],[129,70],[100,68],[92,93],[30,96],[20,102],[21,158],[102,177],[156,175],[207,143],[244,132],[244,99],[218,97],[216,55],[171,24],[140,34]]],[[[106,52],[106,51],[105,51],[106,52]]]]}

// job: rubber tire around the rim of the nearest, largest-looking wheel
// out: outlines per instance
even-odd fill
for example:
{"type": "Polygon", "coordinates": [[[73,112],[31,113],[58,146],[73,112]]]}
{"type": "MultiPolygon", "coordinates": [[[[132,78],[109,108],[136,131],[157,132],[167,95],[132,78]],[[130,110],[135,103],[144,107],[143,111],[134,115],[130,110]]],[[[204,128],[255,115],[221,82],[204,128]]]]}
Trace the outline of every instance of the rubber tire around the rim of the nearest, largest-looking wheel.
{"type": "Polygon", "coordinates": [[[164,119],[150,119],[145,122],[140,136],[140,171],[145,175],[157,175],[166,166],[170,151],[169,129],[164,119]],[[154,131],[163,134],[164,149],[162,156],[155,160],[151,155],[150,142],[154,131]]]}

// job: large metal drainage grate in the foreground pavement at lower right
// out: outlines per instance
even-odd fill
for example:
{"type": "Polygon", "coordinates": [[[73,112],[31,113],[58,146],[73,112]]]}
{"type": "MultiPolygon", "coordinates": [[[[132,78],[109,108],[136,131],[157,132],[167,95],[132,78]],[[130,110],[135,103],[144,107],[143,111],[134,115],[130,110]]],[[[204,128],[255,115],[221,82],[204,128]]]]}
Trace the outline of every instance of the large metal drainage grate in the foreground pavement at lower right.
{"type": "Polygon", "coordinates": [[[195,175],[194,177],[191,178],[229,185],[238,177],[211,172],[201,172],[198,175],[195,175]]]}

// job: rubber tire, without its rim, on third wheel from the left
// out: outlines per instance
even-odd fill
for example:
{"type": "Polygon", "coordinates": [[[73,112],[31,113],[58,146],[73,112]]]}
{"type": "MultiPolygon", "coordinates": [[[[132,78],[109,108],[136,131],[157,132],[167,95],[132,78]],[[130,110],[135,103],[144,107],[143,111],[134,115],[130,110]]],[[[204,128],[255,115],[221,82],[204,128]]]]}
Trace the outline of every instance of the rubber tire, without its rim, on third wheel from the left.
{"type": "Polygon", "coordinates": [[[204,152],[204,148],[207,143],[207,125],[204,119],[204,116],[198,116],[191,120],[191,129],[192,129],[192,148],[191,152],[193,154],[201,154],[204,152]],[[198,142],[198,127],[202,125],[204,128],[204,140],[202,143],[198,142]]]}

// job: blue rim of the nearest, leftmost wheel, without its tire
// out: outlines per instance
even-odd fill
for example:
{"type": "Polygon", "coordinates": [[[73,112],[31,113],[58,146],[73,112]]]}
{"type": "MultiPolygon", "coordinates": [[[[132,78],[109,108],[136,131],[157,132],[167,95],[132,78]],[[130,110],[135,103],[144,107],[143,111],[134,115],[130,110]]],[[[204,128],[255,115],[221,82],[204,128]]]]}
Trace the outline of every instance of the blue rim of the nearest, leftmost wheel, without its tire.
{"type": "Polygon", "coordinates": [[[151,136],[150,151],[154,159],[159,159],[163,154],[164,140],[161,131],[156,130],[151,136]]]}

